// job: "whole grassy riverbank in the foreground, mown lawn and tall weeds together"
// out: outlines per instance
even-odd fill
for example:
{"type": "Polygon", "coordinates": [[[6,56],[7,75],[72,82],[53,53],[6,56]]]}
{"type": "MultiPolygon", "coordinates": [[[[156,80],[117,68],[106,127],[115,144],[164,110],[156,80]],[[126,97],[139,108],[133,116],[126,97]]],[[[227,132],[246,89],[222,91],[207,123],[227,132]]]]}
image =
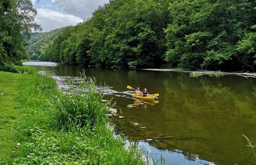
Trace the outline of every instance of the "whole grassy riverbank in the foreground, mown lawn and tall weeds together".
{"type": "Polygon", "coordinates": [[[74,93],[40,74],[0,72],[0,165],[145,164],[108,129],[107,103],[81,79],[74,93]],[[87,92],[84,92],[86,89],[87,92]]]}

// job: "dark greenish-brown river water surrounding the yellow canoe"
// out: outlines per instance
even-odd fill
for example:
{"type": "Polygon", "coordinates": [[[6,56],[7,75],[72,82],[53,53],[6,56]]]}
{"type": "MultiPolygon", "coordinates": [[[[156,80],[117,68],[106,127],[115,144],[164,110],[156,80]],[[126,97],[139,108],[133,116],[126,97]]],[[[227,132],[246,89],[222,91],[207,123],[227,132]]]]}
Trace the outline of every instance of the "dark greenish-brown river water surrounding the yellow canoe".
{"type": "Polygon", "coordinates": [[[116,133],[139,141],[156,160],[162,155],[168,165],[256,164],[242,136],[256,144],[255,78],[191,78],[181,72],[45,65],[36,67],[54,74],[59,87],[66,87],[65,78],[79,77],[82,70],[87,77],[95,77],[98,91],[116,102],[116,133]],[[133,90],[127,85],[159,93],[159,103],[132,106],[133,90]],[[158,141],[145,141],[159,135],[158,141]]]}

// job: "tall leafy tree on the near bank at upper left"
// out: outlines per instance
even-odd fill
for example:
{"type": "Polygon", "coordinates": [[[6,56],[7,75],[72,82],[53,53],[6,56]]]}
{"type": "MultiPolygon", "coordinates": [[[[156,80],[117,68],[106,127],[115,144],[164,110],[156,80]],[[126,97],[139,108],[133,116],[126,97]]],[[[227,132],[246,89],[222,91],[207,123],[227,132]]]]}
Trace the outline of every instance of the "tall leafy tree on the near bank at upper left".
{"type": "Polygon", "coordinates": [[[29,36],[32,30],[41,30],[34,23],[37,10],[30,0],[7,0],[0,3],[0,65],[14,63],[21,65],[21,59],[28,59],[26,42],[22,33],[29,36]]]}

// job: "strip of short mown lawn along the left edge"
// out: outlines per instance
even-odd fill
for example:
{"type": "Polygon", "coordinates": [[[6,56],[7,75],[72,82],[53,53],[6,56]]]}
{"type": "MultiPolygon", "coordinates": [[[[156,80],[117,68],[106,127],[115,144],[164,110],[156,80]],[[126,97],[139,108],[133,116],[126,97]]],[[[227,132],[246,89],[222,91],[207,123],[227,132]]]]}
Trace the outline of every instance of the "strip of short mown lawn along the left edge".
{"type": "Polygon", "coordinates": [[[16,149],[14,134],[20,114],[17,95],[21,79],[21,74],[0,72],[0,161],[9,161],[16,149]]]}

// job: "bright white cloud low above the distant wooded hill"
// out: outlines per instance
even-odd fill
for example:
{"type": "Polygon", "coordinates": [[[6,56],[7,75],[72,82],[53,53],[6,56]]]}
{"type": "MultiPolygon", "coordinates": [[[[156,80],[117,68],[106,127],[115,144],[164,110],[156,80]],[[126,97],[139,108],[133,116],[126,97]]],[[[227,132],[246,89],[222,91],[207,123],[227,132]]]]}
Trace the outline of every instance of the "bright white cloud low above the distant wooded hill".
{"type": "Polygon", "coordinates": [[[79,17],[52,11],[49,9],[37,9],[38,14],[35,17],[35,22],[42,25],[43,32],[58,29],[65,26],[76,25],[83,20],[79,17]]]}

